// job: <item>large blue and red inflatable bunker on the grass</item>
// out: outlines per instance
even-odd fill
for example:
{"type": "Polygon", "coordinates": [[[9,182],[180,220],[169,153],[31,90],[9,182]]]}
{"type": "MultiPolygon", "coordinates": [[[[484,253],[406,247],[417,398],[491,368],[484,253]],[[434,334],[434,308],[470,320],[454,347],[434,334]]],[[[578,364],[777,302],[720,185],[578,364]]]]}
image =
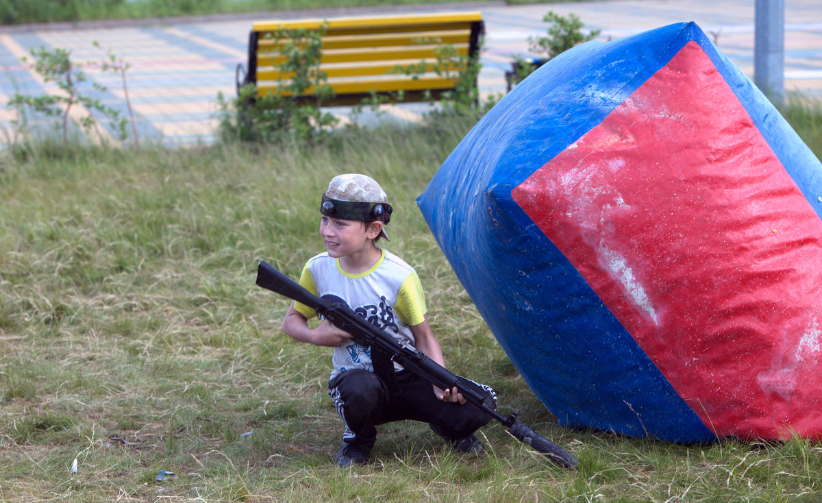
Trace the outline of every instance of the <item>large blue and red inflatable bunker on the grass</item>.
{"type": "Polygon", "coordinates": [[[694,23],[552,59],[418,204],[561,424],[822,434],[822,166],[694,23]]]}

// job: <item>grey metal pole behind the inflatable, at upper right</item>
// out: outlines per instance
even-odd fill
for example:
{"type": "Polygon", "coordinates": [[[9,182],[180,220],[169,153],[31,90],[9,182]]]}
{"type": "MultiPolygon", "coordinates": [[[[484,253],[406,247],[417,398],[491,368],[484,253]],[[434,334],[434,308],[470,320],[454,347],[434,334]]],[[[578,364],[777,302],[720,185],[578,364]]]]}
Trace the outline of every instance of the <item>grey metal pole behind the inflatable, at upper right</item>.
{"type": "Polygon", "coordinates": [[[785,100],[785,2],[756,0],[754,83],[775,104],[785,100]]]}

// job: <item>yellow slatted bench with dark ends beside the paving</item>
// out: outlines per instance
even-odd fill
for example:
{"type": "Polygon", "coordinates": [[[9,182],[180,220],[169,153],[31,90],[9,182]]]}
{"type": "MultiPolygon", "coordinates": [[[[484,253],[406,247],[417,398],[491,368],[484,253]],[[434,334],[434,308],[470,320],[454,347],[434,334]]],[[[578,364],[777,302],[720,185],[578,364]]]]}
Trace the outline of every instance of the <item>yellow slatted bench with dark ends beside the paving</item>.
{"type": "MultiPolygon", "coordinates": [[[[254,84],[258,96],[288,95],[284,84],[293,75],[281,71],[279,48],[297,30],[321,33],[319,69],[335,93],[323,104],[358,104],[375,94],[420,100],[455,90],[467,62],[478,58],[484,25],[480,12],[258,21],[249,35],[247,71],[238,66],[238,90],[254,84]]],[[[309,88],[301,98],[314,92],[309,88]]]]}

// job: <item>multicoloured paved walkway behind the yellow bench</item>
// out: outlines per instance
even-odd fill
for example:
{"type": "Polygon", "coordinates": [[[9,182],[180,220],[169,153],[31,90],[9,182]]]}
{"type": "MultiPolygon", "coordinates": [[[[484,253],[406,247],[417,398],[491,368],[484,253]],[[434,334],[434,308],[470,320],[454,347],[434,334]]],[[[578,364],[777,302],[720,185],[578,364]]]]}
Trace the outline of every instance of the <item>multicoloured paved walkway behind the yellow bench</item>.
{"type": "MultiPolygon", "coordinates": [[[[479,87],[483,95],[506,90],[504,73],[512,55],[527,53],[528,38],[543,36],[543,15],[552,10],[575,13],[586,28],[600,29],[600,39],[617,39],[681,21],[695,21],[742,71],[753,75],[754,7],[751,0],[611,0],[506,6],[499,2],[449,6],[382,7],[380,12],[483,12],[486,51],[479,87]]],[[[819,0],[785,0],[785,89],[822,97],[822,8],[819,0]]],[[[367,11],[289,12],[265,18],[334,17],[367,11]]],[[[259,16],[258,16],[259,17],[259,16]]],[[[248,30],[254,16],[231,19],[176,19],[96,23],[79,26],[0,26],[0,148],[13,137],[12,121],[19,118],[7,107],[16,93],[56,92],[22,62],[30,48],[65,48],[72,60],[84,62],[86,72],[108,90],[98,95],[105,104],[127,113],[121,78],[99,72],[95,62],[107,50],[130,67],[127,90],[142,139],[166,145],[195,145],[215,140],[217,95],[233,96],[234,72],[247,58],[248,30]],[[93,44],[99,42],[99,47],[93,44]]],[[[30,58],[31,59],[31,58],[30,58]]],[[[388,108],[386,117],[415,120],[427,105],[388,108]]],[[[348,108],[332,111],[348,118],[348,108]]],[[[76,110],[81,113],[80,109],[76,110]]],[[[29,118],[34,121],[34,118],[29,118]]],[[[366,116],[360,120],[369,120],[366,116]]],[[[376,119],[375,119],[376,120],[376,119]]],[[[100,128],[103,130],[104,128],[100,128]]]]}

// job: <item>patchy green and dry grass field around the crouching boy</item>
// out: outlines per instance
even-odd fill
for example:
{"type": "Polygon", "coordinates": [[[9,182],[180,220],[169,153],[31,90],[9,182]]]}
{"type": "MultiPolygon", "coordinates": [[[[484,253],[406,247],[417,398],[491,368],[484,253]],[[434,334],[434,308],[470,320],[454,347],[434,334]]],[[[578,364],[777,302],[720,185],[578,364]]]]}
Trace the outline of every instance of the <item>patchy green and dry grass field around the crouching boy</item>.
{"type": "MultiPolygon", "coordinates": [[[[818,109],[796,115],[819,134],[818,109]]],[[[808,441],[684,446],[558,427],[416,208],[471,125],[435,123],[313,149],[2,159],[0,501],[820,501],[822,450],[808,441]],[[487,455],[455,455],[413,422],[381,427],[373,464],[335,468],[329,350],[283,335],[288,301],[254,279],[261,259],[296,277],[321,252],[316,205],[341,172],[389,193],[388,248],[418,268],[448,367],[492,385],[501,413],[519,409],[578,472],[498,424],[481,430],[487,455]],[[176,477],[157,482],[159,470],[176,477]]]]}

